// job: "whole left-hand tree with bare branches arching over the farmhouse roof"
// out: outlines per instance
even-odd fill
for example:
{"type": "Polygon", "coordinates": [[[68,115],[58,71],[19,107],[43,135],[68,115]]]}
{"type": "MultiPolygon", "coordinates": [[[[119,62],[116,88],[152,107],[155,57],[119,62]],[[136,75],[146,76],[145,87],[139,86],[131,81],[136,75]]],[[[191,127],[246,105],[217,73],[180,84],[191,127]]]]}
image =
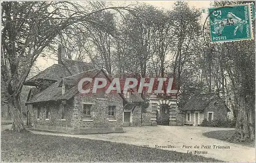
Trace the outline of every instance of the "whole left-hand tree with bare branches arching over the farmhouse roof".
{"type": "MultiPolygon", "coordinates": [[[[95,2],[101,3],[101,2],[95,2]]],[[[31,67],[40,53],[53,43],[61,31],[71,25],[92,25],[94,14],[125,7],[101,6],[94,2],[3,2],[2,3],[2,80],[13,117],[12,129],[22,131],[24,123],[19,95],[31,67]]],[[[103,5],[102,5],[103,6],[103,5]]]]}

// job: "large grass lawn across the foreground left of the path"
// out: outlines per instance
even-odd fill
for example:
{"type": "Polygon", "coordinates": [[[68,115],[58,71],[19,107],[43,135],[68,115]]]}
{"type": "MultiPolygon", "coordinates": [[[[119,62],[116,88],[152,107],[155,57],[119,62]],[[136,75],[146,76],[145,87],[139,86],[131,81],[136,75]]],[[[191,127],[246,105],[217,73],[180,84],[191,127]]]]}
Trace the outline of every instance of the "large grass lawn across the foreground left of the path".
{"type": "Polygon", "coordinates": [[[220,161],[154,148],[80,138],[2,131],[1,161],[220,161]]]}

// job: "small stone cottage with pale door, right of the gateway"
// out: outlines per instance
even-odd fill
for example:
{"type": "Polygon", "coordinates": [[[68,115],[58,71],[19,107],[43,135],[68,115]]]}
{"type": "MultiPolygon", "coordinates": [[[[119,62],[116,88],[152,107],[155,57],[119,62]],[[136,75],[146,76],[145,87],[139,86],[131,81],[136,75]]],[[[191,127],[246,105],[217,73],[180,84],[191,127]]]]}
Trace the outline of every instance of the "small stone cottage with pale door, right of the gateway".
{"type": "Polygon", "coordinates": [[[207,121],[227,118],[229,108],[217,93],[199,94],[191,97],[181,108],[185,113],[185,125],[198,126],[207,121]]]}

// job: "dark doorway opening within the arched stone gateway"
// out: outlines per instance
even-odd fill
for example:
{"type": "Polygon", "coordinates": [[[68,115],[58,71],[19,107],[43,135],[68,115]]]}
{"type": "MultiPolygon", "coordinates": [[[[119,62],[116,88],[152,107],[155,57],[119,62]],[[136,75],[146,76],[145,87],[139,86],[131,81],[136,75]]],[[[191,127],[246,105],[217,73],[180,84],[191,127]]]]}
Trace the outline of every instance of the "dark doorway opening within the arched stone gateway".
{"type": "Polygon", "coordinates": [[[168,126],[170,121],[169,117],[169,106],[167,104],[161,104],[160,110],[157,112],[157,124],[168,126]]]}

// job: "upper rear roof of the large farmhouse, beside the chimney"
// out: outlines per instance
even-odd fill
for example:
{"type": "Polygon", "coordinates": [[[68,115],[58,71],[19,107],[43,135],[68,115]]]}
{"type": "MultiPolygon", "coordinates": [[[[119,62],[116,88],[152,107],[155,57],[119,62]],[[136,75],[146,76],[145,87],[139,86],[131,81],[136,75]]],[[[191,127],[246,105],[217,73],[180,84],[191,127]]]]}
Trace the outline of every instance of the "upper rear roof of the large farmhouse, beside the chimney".
{"type": "Polygon", "coordinates": [[[93,64],[91,63],[73,61],[69,59],[62,59],[62,63],[63,65],[54,64],[48,67],[44,71],[27,80],[24,85],[40,86],[45,82],[55,83],[60,78],[75,75],[94,68],[93,64]]]}

